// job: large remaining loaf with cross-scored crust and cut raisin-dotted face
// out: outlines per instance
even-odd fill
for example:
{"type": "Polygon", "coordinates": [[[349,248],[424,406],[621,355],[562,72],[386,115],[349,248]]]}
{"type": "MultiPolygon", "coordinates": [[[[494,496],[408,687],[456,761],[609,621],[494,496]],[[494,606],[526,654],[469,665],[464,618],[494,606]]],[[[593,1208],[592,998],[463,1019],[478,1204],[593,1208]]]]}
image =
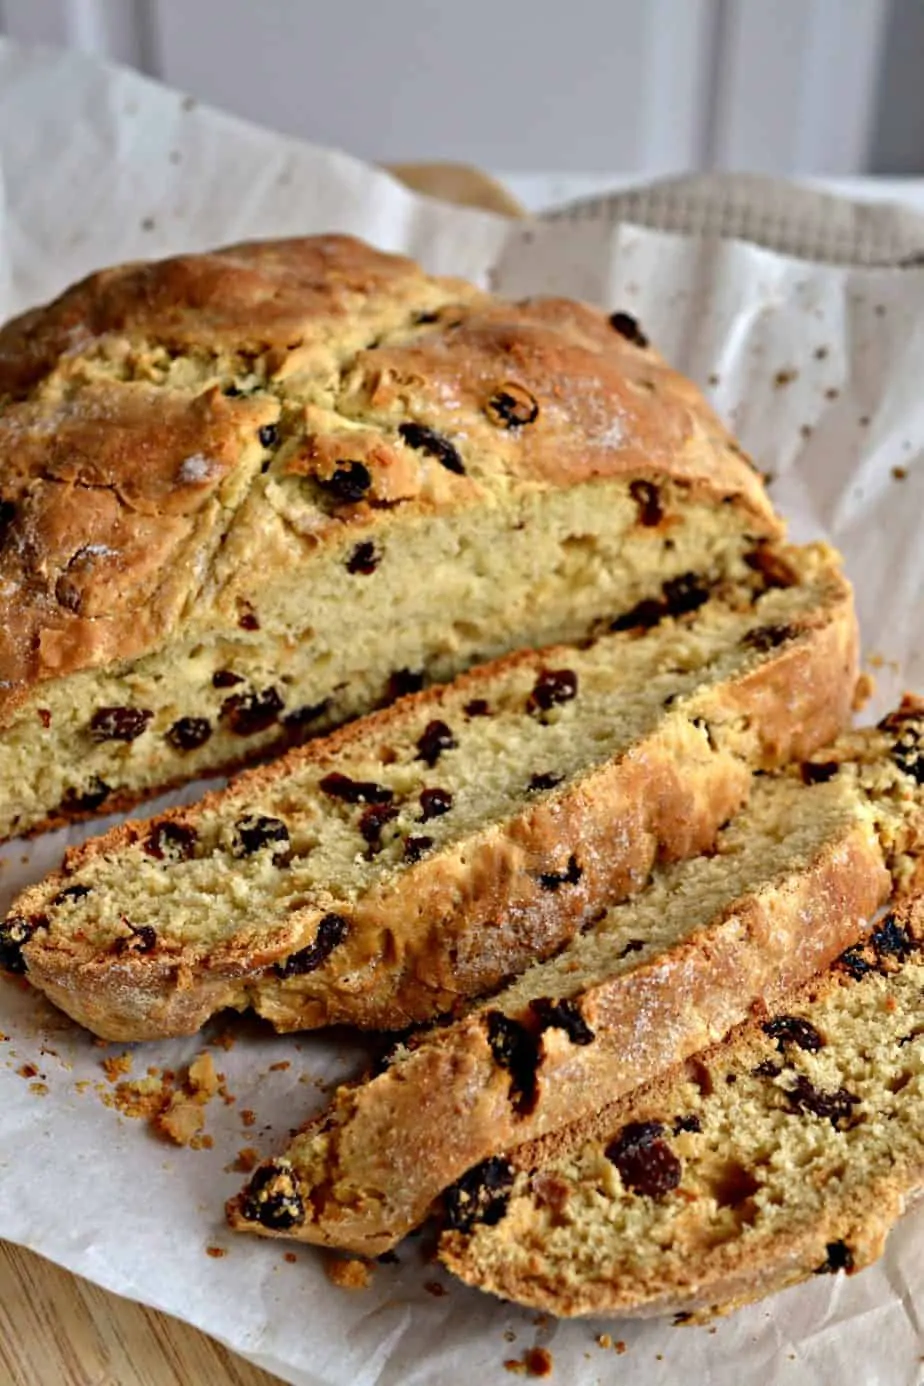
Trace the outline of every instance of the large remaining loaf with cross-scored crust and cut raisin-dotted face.
{"type": "Polygon", "coordinates": [[[625,313],[337,236],[104,270],[0,331],[0,837],[744,579],[780,534],[625,313]]]}

